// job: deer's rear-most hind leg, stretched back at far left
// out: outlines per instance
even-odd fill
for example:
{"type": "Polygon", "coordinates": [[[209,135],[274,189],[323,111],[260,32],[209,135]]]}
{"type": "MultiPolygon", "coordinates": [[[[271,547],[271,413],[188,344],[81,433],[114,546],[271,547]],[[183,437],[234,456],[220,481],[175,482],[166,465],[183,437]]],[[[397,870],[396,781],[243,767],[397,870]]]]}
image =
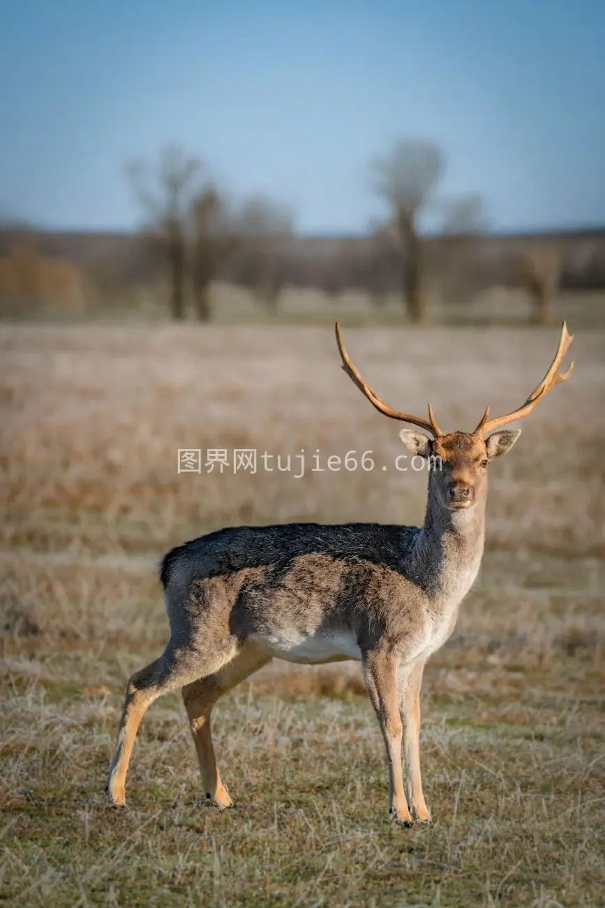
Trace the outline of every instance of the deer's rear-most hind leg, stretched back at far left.
{"type": "Polygon", "coordinates": [[[118,742],[107,778],[106,791],[112,804],[126,804],[126,773],[134,738],[142,717],[153,701],[162,694],[190,684],[196,678],[215,674],[237,655],[238,646],[234,637],[224,641],[223,646],[214,647],[211,653],[191,648],[177,649],[169,644],[159,659],[132,675],[126,688],[118,742]]]}

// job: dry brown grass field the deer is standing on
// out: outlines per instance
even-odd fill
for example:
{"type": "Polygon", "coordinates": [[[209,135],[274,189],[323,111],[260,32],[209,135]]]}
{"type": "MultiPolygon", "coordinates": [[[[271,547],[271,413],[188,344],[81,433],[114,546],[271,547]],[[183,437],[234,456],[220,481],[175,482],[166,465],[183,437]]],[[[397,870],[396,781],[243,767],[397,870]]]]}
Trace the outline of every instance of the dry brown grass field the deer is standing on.
{"type": "MultiPolygon", "coordinates": [[[[570,328],[574,329],[570,316],[570,328]]],[[[556,329],[371,328],[348,349],[389,403],[471,429],[525,400],[556,329]]],[[[605,331],[493,464],[483,568],[424,680],[435,823],[387,820],[357,666],[271,666],[220,701],[236,809],[200,804],[180,696],[151,707],[130,810],[103,786],[127,677],[161,652],[156,566],[227,524],[419,523],[425,476],[287,325],[0,328],[0,898],[23,905],[605,903],[605,331]],[[177,473],[177,449],[306,452],[288,472],[177,473]],[[311,471],[319,450],[323,471],[311,471]],[[373,451],[375,469],[327,457],[373,451]],[[385,469],[382,469],[385,467],[385,469]]],[[[275,463],[275,461],[273,461],[275,463]]]]}

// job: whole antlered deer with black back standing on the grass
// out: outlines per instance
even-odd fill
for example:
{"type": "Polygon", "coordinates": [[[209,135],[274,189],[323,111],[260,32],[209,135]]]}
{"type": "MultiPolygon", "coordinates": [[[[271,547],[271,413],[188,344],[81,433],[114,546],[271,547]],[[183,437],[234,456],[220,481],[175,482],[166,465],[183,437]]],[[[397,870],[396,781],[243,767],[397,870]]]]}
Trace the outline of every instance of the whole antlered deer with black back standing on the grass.
{"type": "Polygon", "coordinates": [[[420,772],[424,665],[452,635],[479,571],[487,467],[521,434],[501,427],[569,378],[573,363],[559,370],[573,338],[563,322],[549,370],[517,410],[490,419],[488,407],[473,432],[444,433],[430,403],[424,419],[380,400],[349,359],[338,323],[336,333],[343,370],[376,410],[423,429],[399,435],[428,461],[424,525],[232,527],[172,548],[160,570],[170,640],[128,682],[106,784],[113,805],[126,803],[132,745],[157,697],[181,688],[205,803],[225,809],[232,801],[210,735],[220,696],[274,657],[305,665],[353,659],[384,738],[389,816],[403,827],[431,820],[420,772]]]}

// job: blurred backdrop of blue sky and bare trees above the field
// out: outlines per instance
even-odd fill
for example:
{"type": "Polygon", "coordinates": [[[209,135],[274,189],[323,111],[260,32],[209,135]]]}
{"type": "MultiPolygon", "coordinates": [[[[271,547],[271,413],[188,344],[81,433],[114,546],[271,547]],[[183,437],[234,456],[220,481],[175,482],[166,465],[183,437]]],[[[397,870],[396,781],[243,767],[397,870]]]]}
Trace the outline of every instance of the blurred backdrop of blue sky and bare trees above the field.
{"type": "Polygon", "coordinates": [[[602,322],[600,4],[1,15],[2,316],[602,322]]]}

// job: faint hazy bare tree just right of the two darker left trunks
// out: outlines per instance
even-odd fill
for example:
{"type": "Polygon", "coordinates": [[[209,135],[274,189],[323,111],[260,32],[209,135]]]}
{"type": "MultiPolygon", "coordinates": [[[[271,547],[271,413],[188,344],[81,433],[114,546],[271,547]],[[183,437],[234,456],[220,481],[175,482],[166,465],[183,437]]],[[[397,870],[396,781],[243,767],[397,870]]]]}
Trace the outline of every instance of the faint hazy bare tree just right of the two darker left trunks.
{"type": "Polygon", "coordinates": [[[250,196],[239,215],[244,268],[249,286],[273,315],[286,283],[286,251],[294,236],[294,216],[266,195],[250,196]]]}

